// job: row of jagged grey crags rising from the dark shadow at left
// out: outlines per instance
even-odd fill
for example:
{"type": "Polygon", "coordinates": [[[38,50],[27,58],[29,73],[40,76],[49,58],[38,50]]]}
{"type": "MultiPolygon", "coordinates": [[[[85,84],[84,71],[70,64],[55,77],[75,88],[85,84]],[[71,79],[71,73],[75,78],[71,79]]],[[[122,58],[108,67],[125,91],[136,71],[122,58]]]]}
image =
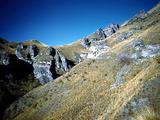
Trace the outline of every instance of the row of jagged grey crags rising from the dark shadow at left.
{"type": "Polygon", "coordinates": [[[71,67],[66,58],[52,47],[44,48],[39,54],[38,52],[39,50],[35,45],[18,44],[16,48],[16,56],[33,64],[34,75],[42,84],[57,78],[71,67]]]}

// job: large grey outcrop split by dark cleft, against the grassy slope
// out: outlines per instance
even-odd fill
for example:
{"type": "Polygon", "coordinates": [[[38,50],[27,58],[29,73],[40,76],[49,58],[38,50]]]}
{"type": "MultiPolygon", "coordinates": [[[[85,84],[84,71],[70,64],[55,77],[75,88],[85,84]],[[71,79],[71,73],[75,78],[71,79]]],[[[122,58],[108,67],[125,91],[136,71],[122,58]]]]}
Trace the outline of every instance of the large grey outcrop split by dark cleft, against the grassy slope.
{"type": "Polygon", "coordinates": [[[52,47],[41,51],[34,59],[34,75],[44,84],[69,70],[65,57],[52,47]]]}

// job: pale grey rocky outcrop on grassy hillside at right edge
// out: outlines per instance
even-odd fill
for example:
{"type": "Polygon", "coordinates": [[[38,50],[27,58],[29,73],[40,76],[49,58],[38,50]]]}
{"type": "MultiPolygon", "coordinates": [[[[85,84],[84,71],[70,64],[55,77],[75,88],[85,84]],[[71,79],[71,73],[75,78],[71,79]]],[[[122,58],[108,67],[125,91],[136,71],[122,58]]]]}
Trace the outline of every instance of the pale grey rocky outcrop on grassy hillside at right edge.
{"type": "Polygon", "coordinates": [[[125,50],[117,55],[117,58],[123,62],[132,60],[144,60],[159,55],[160,45],[145,45],[142,39],[135,39],[125,46],[125,50]],[[128,50],[130,49],[130,50],[128,50]]]}

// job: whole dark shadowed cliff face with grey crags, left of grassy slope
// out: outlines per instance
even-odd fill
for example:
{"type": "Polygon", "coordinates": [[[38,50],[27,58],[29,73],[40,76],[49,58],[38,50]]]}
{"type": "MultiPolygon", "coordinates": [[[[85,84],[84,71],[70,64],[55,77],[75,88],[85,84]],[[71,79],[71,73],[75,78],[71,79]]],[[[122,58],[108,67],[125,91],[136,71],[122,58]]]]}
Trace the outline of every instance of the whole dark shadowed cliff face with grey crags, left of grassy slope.
{"type": "Polygon", "coordinates": [[[4,40],[0,43],[0,116],[10,103],[73,66],[52,47],[25,43],[14,43],[14,47],[10,47],[12,44],[4,40]]]}

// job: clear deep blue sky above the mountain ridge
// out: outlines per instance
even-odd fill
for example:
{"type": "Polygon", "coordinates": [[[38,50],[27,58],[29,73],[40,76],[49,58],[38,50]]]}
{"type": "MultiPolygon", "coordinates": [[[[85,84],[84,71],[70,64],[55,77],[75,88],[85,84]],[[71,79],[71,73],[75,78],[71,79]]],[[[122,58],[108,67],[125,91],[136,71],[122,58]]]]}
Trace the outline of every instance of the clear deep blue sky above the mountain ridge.
{"type": "Polygon", "coordinates": [[[64,45],[110,23],[121,24],[159,0],[0,0],[0,37],[64,45]]]}

